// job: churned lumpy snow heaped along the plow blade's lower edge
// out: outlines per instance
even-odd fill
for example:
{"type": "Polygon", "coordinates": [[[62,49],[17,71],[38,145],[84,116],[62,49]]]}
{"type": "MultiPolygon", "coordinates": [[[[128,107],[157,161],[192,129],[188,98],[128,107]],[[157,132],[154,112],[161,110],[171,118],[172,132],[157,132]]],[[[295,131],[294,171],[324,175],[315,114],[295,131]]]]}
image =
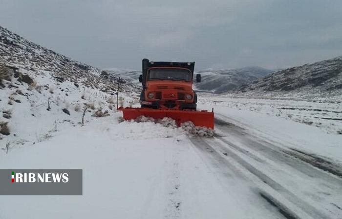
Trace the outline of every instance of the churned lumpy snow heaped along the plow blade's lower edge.
{"type": "Polygon", "coordinates": [[[139,116],[134,122],[137,123],[155,123],[160,124],[166,128],[180,129],[189,136],[201,136],[201,137],[213,137],[214,130],[211,128],[195,126],[191,121],[182,123],[180,127],[177,126],[176,121],[169,117],[164,117],[163,119],[154,119],[146,116],[139,116]]]}

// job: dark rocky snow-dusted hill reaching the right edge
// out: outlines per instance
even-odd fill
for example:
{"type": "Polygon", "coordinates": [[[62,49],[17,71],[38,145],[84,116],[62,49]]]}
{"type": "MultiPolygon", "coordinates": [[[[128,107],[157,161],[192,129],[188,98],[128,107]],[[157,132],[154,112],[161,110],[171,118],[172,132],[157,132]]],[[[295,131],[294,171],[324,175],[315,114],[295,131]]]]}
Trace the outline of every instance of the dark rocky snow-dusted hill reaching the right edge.
{"type": "Polygon", "coordinates": [[[339,96],[342,95],[342,56],[272,73],[234,92],[258,97],[339,96]]]}

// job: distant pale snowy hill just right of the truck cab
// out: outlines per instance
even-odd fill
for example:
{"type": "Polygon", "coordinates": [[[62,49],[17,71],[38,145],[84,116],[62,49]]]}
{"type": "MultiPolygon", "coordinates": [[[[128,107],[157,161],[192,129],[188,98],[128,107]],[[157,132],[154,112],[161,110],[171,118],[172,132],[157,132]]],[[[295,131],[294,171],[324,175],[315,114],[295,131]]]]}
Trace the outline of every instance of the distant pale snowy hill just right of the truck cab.
{"type": "Polygon", "coordinates": [[[197,73],[202,76],[201,83],[196,84],[197,90],[224,93],[272,73],[272,71],[260,67],[246,67],[240,69],[207,69],[197,73]]]}

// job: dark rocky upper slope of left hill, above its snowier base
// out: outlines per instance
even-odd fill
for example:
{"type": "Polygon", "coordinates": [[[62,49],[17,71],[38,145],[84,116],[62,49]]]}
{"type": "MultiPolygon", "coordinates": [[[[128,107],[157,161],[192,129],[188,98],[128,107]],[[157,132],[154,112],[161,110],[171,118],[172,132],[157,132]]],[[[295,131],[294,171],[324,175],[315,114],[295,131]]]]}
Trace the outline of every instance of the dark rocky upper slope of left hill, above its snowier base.
{"type": "MultiPolygon", "coordinates": [[[[0,26],[0,63],[13,71],[39,73],[50,72],[57,81],[68,80],[75,84],[99,89],[114,94],[117,77],[105,71],[80,63],[32,43],[0,26]],[[101,85],[101,86],[100,86],[101,85]]],[[[135,87],[122,80],[124,91],[132,92],[135,87]]]]}

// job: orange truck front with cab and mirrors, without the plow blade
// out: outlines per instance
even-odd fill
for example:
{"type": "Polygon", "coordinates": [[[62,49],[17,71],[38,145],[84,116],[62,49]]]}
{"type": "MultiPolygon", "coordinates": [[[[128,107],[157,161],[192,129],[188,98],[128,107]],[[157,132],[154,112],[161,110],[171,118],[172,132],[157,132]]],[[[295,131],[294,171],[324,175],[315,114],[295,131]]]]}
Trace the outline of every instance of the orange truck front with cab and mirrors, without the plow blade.
{"type": "MultiPolygon", "coordinates": [[[[142,108],[196,110],[192,89],[194,62],[154,62],[143,59],[140,103],[142,108]]],[[[196,82],[201,75],[196,75],[196,82]]]]}

